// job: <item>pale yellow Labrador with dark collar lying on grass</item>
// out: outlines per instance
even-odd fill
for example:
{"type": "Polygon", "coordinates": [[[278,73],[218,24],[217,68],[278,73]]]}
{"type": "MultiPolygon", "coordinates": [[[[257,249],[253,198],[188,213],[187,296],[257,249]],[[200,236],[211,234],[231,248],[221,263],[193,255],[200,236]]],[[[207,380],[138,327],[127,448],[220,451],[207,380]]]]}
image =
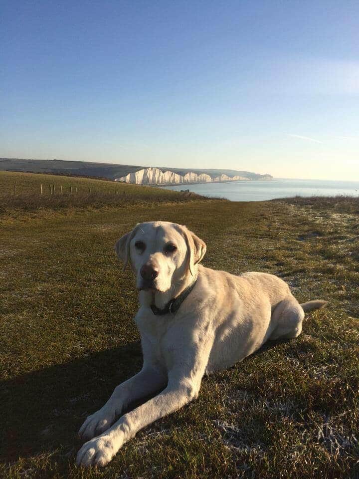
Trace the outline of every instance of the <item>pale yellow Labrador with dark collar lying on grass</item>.
{"type": "Polygon", "coordinates": [[[138,224],[115,244],[136,274],[142,370],[117,386],[89,416],[77,455],[84,467],[106,466],[136,433],[198,396],[205,374],[228,368],[267,340],[296,338],[304,313],[327,301],[304,304],[272,274],[239,276],[200,265],[206,244],[185,226],[138,224]],[[162,391],[124,414],[133,401],[162,391]]]}

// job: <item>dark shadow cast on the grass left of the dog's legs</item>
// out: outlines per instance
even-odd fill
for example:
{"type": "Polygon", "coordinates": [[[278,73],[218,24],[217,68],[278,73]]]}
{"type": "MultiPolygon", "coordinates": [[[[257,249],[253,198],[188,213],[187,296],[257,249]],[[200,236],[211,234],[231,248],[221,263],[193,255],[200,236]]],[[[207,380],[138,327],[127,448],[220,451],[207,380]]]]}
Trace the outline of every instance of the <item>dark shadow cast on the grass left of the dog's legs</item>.
{"type": "Polygon", "coordinates": [[[107,349],[0,383],[0,459],[73,448],[86,416],[141,369],[140,342],[107,349]],[[2,430],[2,431],[1,431],[2,430]]]}

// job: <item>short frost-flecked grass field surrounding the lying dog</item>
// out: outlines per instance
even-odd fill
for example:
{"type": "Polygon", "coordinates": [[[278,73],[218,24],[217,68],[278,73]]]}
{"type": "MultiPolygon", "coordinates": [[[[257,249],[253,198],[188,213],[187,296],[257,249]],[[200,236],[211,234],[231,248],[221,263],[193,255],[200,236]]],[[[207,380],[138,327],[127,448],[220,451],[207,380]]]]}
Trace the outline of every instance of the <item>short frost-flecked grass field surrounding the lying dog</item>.
{"type": "Polygon", "coordinates": [[[111,208],[2,207],[0,477],[358,477],[356,207],[151,193],[140,207],[136,195],[111,208]],[[300,301],[331,304],[307,315],[297,339],[205,378],[197,401],[141,431],[107,468],[84,471],[74,463],[79,427],[142,363],[133,274],[113,244],[155,219],[205,240],[205,266],[278,274],[300,301]]]}

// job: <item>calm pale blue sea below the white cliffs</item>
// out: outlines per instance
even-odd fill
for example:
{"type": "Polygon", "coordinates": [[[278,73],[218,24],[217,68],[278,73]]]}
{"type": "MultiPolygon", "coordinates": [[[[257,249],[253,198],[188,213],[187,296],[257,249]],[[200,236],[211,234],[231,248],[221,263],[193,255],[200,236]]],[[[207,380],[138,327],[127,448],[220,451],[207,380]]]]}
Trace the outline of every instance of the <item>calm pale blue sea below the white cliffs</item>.
{"type": "Polygon", "coordinates": [[[264,201],[292,196],[359,196],[359,181],[282,180],[232,181],[198,185],[167,186],[198,195],[227,198],[231,201],[264,201]]]}

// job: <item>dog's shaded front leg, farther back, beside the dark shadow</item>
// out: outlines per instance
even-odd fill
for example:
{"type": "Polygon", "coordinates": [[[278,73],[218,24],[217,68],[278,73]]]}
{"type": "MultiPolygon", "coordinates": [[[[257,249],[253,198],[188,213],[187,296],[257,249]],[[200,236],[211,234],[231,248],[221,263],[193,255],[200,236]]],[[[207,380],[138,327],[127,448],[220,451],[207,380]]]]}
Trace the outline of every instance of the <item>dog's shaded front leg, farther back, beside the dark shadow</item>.
{"type": "Polygon", "coordinates": [[[88,416],[81,426],[79,436],[89,440],[103,433],[120,417],[129,403],[165,388],[166,383],[167,378],[164,374],[148,367],[142,369],[117,386],[107,403],[96,413],[88,416]]]}

